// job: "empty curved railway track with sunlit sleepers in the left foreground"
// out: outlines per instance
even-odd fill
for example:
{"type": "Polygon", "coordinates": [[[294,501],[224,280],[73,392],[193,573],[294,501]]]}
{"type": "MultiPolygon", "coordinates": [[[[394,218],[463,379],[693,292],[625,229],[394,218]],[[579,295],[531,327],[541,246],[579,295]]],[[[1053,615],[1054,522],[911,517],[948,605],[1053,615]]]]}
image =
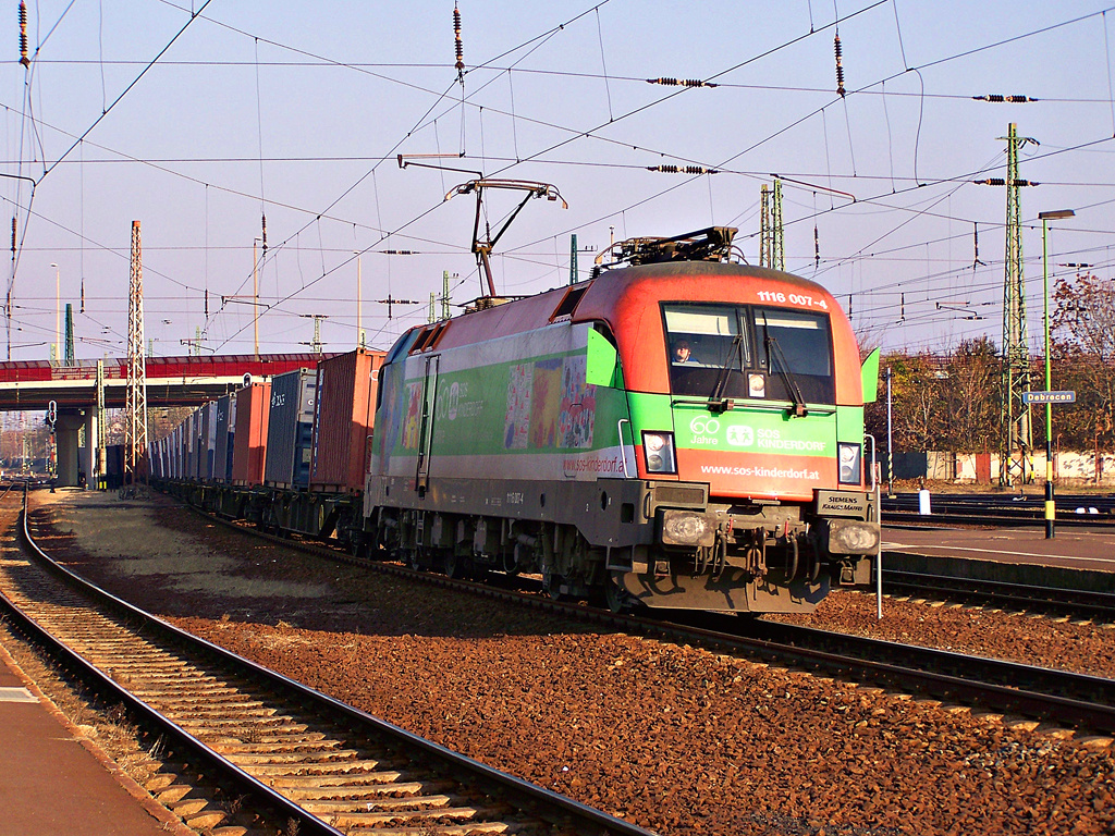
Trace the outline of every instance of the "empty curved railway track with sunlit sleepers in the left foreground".
{"type": "Polygon", "coordinates": [[[649,836],[184,633],[52,562],[26,514],[20,529],[27,560],[0,566],[9,623],[287,833],[649,836]]]}

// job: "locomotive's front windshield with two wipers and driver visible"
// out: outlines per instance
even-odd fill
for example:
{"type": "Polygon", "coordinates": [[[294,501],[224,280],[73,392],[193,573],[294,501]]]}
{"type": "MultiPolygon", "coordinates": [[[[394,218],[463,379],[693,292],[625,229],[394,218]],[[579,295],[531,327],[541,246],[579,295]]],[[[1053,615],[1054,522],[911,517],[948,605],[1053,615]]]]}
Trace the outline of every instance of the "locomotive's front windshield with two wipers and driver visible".
{"type": "Polygon", "coordinates": [[[662,313],[672,393],[835,402],[827,314],[707,302],[662,313]]]}

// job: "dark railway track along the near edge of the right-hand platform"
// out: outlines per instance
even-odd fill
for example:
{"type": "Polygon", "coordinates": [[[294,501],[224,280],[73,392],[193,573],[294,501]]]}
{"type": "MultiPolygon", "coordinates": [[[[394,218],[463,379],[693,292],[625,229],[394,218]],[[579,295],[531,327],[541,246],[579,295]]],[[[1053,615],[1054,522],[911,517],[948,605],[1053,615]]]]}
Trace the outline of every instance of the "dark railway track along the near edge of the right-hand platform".
{"type": "Polygon", "coordinates": [[[939,601],[957,601],[1070,619],[1089,619],[1097,623],[1115,623],[1115,594],[1106,592],[1031,586],[896,570],[883,572],[883,592],[891,595],[918,595],[939,601]]]}

